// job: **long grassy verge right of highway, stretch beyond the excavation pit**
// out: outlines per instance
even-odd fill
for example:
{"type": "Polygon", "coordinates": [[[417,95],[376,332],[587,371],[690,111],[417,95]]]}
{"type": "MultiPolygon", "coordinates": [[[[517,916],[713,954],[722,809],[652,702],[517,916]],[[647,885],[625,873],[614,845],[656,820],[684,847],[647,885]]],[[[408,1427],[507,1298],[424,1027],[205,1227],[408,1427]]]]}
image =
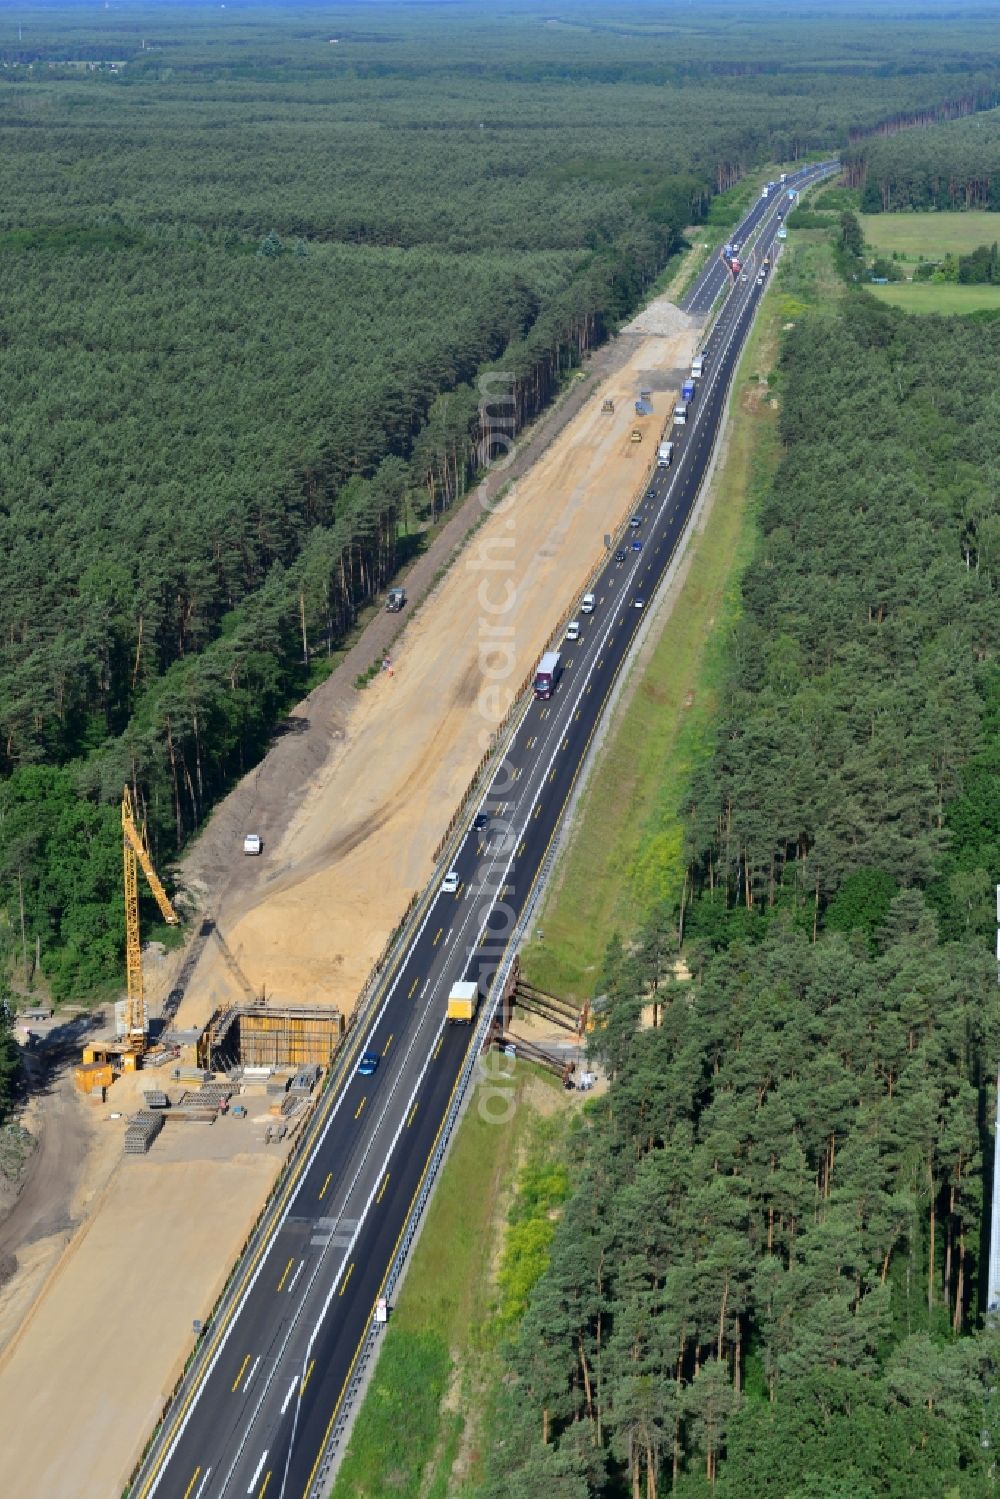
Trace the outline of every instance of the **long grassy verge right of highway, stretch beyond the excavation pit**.
{"type": "Polygon", "coordinates": [[[654,902],[679,896],[679,808],[693,770],[711,751],[739,579],[754,546],[751,499],[777,462],[768,373],[781,327],[840,291],[829,234],[793,235],[736,373],[729,447],[682,591],[609,732],[535,937],[522,952],[529,982],[550,994],[592,998],[612,934],[634,932],[654,902]]]}

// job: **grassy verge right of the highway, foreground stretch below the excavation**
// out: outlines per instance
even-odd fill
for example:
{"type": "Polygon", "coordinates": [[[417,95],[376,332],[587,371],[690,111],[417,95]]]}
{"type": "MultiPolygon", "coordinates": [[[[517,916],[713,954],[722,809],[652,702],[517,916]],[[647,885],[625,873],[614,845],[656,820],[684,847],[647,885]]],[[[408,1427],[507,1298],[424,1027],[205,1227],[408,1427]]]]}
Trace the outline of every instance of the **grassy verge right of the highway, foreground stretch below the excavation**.
{"type": "MultiPolygon", "coordinates": [[[[463,1412],[471,1405],[445,1397],[456,1378],[456,1361],[462,1370],[472,1345],[490,1342],[483,1328],[495,1310],[493,1262],[504,1204],[519,1156],[528,1151],[540,1124],[532,1094],[538,1097],[535,1090],[541,1088],[544,1096],[552,1085],[561,1096],[555,1081],[550,1084],[520,1063],[510,1084],[504,1081],[507,1085],[514,1103],[507,1123],[495,1123],[504,1099],[487,1097],[486,1106],[478,1106],[484,1097],[481,1088],[462,1120],[393,1309],[333,1499],[387,1495],[445,1499],[448,1493],[465,1436],[463,1412]]],[[[534,1181],[531,1159],[523,1169],[528,1181],[534,1181]]],[[[517,1261],[510,1276],[516,1286],[522,1285],[517,1261]]]]}

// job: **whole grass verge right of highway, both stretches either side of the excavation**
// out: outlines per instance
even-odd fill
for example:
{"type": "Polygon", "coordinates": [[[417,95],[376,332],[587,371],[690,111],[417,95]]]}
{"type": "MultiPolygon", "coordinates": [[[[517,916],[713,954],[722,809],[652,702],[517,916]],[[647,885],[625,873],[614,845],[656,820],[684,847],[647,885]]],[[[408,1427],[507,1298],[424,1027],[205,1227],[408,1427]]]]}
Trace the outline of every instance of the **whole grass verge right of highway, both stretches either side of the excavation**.
{"type": "MultiPolygon", "coordinates": [[[[840,288],[829,237],[795,241],[741,361],[706,531],[586,790],[567,877],[546,905],[546,941],[531,955],[532,977],[552,974],[559,992],[591,994],[615,925],[633,931],[639,902],[679,878],[678,806],[691,767],[711,747],[739,576],[754,544],[753,502],[777,460],[768,376],[780,330],[840,288]]],[[[477,1492],[486,1429],[504,1418],[507,1399],[498,1349],[546,1268],[553,1214],[568,1190],[565,1142],[576,1118],[552,1096],[546,1102],[547,1090],[556,1099],[562,1090],[534,1069],[517,1064],[513,1084],[508,1124],[490,1123],[474,1099],[459,1129],[333,1499],[471,1499],[477,1492]]]]}

